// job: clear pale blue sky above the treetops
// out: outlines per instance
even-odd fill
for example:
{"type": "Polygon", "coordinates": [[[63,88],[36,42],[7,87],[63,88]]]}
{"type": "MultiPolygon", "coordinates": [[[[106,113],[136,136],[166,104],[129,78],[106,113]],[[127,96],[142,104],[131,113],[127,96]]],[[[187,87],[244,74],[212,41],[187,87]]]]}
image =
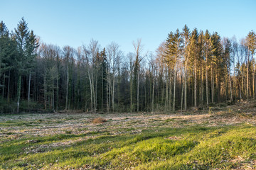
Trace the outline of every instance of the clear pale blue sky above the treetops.
{"type": "Polygon", "coordinates": [[[256,30],[255,0],[0,0],[0,21],[9,30],[24,17],[43,42],[78,47],[93,38],[101,47],[117,42],[125,53],[142,38],[144,52],[155,51],[170,31],[188,28],[244,38],[256,30]]]}

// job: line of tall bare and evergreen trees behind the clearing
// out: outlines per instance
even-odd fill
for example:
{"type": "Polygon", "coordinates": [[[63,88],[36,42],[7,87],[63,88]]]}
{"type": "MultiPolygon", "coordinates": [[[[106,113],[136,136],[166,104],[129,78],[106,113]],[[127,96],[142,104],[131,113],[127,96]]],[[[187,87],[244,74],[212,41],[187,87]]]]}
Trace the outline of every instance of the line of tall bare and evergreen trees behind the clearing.
{"type": "Polygon", "coordinates": [[[156,52],[141,40],[127,55],[96,40],[77,49],[48,45],[22,18],[0,23],[0,109],[175,111],[255,98],[256,36],[239,42],[196,28],[169,33],[156,52]]]}

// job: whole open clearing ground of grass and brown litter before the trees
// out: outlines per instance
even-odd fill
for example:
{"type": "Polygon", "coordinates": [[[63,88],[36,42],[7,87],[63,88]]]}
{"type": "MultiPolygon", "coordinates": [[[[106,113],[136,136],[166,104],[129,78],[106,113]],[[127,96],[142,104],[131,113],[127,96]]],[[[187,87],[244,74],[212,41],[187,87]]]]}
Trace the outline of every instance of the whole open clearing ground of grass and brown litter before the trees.
{"type": "Polygon", "coordinates": [[[0,169],[256,169],[256,101],[196,112],[0,115],[0,169]]]}

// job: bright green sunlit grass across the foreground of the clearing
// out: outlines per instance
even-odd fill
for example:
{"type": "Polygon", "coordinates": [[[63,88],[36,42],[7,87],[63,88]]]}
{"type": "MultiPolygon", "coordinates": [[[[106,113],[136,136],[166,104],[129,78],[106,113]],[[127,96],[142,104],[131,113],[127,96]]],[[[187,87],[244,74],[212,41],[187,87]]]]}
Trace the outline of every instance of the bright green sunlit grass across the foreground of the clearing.
{"type": "Polygon", "coordinates": [[[256,158],[256,127],[245,124],[221,128],[198,125],[152,128],[137,135],[99,135],[72,145],[27,153],[31,147],[50,146],[95,134],[63,134],[2,142],[0,168],[232,169],[238,163],[230,161],[238,156],[245,161],[256,158]],[[174,136],[178,140],[168,138],[174,136]]]}

